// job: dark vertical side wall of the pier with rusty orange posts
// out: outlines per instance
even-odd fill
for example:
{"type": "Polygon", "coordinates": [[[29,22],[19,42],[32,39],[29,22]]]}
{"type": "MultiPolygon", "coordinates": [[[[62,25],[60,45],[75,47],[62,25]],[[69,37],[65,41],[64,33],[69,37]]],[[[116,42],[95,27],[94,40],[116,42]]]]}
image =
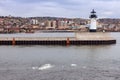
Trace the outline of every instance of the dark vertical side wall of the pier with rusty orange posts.
{"type": "Polygon", "coordinates": [[[0,45],[108,45],[115,44],[116,40],[0,40],[0,45]]]}

